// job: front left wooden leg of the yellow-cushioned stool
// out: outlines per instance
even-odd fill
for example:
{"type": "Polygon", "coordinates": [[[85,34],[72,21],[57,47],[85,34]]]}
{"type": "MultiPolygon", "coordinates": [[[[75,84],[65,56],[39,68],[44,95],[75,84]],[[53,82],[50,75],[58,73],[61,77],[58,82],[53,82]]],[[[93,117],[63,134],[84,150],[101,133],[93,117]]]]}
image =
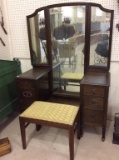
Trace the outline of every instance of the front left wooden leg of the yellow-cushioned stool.
{"type": "Polygon", "coordinates": [[[21,129],[21,139],[22,139],[22,147],[26,149],[26,133],[25,133],[25,122],[22,118],[19,118],[20,129],[21,129]]]}

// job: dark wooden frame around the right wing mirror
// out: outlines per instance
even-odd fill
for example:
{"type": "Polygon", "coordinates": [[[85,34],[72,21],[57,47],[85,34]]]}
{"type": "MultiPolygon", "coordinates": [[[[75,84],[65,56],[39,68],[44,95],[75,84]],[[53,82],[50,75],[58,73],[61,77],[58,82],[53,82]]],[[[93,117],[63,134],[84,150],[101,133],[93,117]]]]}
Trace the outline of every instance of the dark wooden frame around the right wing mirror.
{"type": "Polygon", "coordinates": [[[86,70],[85,71],[100,71],[100,72],[108,72],[110,69],[110,60],[111,60],[111,48],[112,48],[112,31],[113,31],[113,16],[114,16],[114,10],[110,10],[110,9],[106,9],[104,7],[102,7],[100,4],[96,4],[96,3],[90,3],[89,7],[88,7],[88,27],[87,27],[87,35],[91,35],[90,31],[91,31],[91,7],[99,7],[102,11],[110,13],[110,30],[109,30],[109,50],[108,50],[108,61],[107,61],[107,67],[104,66],[91,66],[89,65],[89,61],[90,61],[90,37],[88,37],[87,41],[86,41],[86,50],[85,52],[87,54],[86,55],[86,70]]]}

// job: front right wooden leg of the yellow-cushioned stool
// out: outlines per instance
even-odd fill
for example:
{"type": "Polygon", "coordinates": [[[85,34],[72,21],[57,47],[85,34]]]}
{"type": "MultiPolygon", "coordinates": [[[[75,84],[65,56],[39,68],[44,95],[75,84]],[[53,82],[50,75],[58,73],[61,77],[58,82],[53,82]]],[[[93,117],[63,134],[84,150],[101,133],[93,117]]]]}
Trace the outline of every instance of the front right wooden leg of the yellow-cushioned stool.
{"type": "Polygon", "coordinates": [[[74,128],[73,126],[69,128],[69,152],[70,152],[70,160],[74,160],[74,128]]]}

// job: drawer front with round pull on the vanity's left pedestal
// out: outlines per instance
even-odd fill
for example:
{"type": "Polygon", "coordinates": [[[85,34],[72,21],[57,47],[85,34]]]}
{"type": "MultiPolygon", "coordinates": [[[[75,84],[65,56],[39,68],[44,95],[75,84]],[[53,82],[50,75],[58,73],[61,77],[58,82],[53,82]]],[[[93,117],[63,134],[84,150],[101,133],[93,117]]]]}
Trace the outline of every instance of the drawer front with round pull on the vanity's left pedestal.
{"type": "Polygon", "coordinates": [[[35,89],[22,89],[22,90],[19,90],[19,94],[21,98],[27,98],[27,99],[37,98],[35,89]]]}

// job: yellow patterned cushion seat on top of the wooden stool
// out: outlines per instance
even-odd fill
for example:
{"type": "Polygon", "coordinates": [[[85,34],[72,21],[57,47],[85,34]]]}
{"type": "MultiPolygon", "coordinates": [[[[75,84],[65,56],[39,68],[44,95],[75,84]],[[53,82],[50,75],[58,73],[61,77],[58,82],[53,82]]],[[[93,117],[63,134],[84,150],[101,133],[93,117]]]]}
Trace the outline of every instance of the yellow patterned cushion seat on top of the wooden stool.
{"type": "Polygon", "coordinates": [[[77,106],[35,101],[20,117],[72,125],[78,110],[77,106]]]}

